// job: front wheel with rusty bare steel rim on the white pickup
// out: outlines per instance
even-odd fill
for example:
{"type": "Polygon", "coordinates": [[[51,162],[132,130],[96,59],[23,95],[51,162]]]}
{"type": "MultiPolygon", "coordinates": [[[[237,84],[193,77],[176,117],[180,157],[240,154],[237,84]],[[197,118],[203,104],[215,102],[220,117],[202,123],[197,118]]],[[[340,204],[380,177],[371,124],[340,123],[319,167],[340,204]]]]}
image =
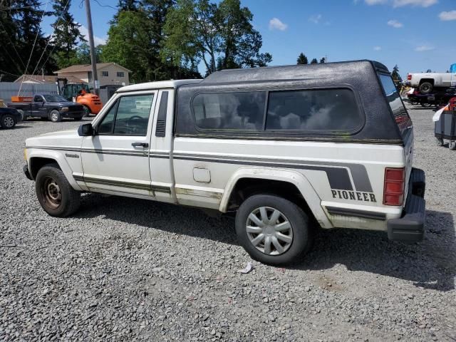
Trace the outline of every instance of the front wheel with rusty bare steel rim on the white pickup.
{"type": "Polygon", "coordinates": [[[44,211],[53,217],[67,217],[76,212],[81,194],[71,187],[57,164],[41,167],[36,175],[35,191],[44,211]]]}

